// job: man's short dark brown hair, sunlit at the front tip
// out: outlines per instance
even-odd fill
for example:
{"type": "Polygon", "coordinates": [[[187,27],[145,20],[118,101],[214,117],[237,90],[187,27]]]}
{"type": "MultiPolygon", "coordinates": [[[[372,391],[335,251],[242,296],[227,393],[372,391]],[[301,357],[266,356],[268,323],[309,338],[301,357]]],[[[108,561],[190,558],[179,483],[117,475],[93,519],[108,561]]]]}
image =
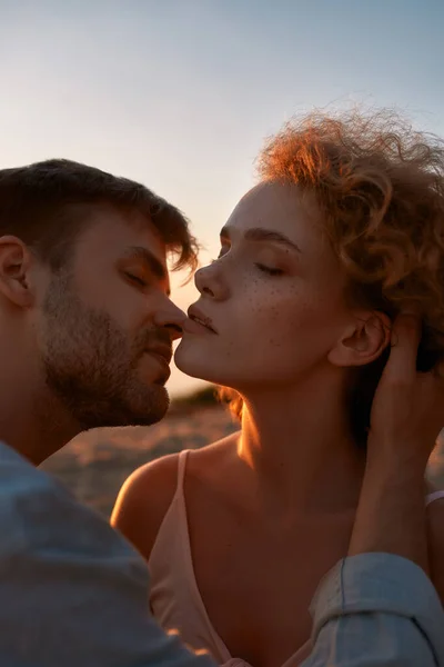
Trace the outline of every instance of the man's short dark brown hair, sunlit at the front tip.
{"type": "Polygon", "coordinates": [[[64,159],[0,170],[0,236],[20,238],[53,270],[67,262],[97,206],[141,213],[173,256],[173,269],[195,268],[186,218],[141,183],[64,159]]]}

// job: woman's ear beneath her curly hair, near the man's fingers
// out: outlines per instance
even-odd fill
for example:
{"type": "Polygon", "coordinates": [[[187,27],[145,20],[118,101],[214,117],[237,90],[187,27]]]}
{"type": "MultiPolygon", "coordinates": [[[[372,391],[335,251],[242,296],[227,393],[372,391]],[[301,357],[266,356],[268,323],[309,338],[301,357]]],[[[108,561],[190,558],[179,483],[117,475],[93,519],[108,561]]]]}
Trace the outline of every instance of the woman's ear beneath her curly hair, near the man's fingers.
{"type": "Polygon", "coordinates": [[[390,344],[392,322],[384,312],[361,312],[329,354],[334,366],[364,366],[380,357],[390,344]]]}

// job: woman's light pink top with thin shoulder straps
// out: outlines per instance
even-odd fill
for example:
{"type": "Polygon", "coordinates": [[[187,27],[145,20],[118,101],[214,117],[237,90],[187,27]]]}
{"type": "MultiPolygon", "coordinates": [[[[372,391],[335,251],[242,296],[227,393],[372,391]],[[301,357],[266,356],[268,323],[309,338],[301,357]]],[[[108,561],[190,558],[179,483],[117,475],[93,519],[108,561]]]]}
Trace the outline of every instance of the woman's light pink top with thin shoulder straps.
{"type": "MultiPolygon", "coordinates": [[[[194,649],[209,650],[220,665],[250,667],[245,660],[230,655],[212,626],[198,588],[183,495],[188,454],[189,450],[185,450],[179,455],[178,487],[148,564],[151,573],[151,608],[164,629],[179,630],[186,644],[194,649]]],[[[426,504],[443,497],[444,491],[435,491],[426,497],[426,504]]],[[[309,639],[282,667],[299,667],[309,657],[311,648],[309,639]]]]}

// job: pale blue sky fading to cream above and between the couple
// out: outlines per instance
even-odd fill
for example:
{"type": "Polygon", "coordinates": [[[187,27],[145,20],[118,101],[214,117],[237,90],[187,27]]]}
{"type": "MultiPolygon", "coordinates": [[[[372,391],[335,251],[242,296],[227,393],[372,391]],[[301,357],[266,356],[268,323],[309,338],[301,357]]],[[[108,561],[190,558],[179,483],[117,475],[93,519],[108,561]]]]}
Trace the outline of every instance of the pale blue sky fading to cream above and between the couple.
{"type": "MultiPolygon", "coordinates": [[[[443,33],[442,0],[0,0],[0,168],[64,157],[139,180],[205,263],[293,116],[395,107],[444,136],[443,33]]],[[[173,368],[173,396],[199,386],[173,368]]]]}

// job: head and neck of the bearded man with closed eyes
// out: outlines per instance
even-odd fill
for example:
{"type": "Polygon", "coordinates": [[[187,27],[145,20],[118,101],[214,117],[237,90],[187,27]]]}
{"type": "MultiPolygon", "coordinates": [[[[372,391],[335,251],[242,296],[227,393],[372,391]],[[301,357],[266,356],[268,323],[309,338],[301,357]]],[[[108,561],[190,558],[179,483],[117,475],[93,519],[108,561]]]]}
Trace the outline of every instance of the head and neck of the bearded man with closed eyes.
{"type": "Polygon", "coordinates": [[[165,252],[195,262],[183,216],[142,186],[53,160],[0,172],[0,227],[4,440],[40,464],[81,430],[161,419],[184,318],[165,252]]]}

